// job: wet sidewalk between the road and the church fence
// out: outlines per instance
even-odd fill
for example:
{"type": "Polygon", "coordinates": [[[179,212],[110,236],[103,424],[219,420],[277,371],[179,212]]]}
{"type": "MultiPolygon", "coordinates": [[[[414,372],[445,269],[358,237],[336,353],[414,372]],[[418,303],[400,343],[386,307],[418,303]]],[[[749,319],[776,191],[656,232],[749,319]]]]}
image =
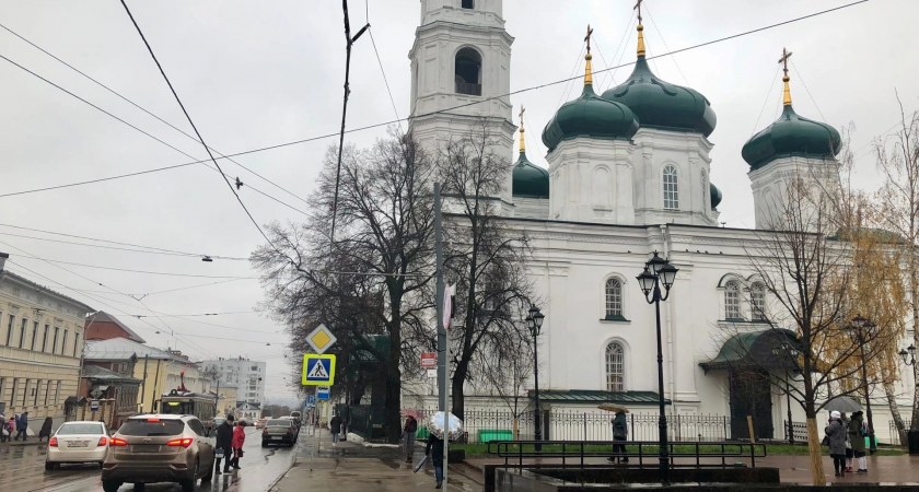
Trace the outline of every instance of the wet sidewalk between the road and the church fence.
{"type": "MultiPolygon", "coordinates": [[[[424,456],[422,447],[415,453],[415,462],[424,456]]],[[[336,492],[402,492],[433,490],[434,468],[430,462],[418,473],[414,464],[405,462],[405,454],[392,447],[368,447],[353,442],[333,447],[328,431],[322,433],[322,450],[316,436],[301,436],[296,459],[291,469],[270,489],[271,492],[334,490],[336,492]]],[[[481,472],[460,465],[447,470],[449,490],[480,491],[481,472]],[[468,477],[465,475],[468,473],[468,477]]]]}

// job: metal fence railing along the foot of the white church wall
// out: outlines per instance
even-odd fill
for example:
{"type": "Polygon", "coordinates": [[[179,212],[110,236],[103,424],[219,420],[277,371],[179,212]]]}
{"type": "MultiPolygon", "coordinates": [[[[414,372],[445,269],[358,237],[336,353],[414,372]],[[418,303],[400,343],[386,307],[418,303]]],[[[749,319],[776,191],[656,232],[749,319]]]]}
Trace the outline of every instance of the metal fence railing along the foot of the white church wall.
{"type": "MultiPolygon", "coordinates": [[[[418,409],[422,415],[419,430],[437,409],[418,409]]],[[[533,412],[516,415],[509,410],[469,409],[463,415],[464,441],[487,443],[489,441],[534,440],[533,412]],[[516,434],[514,430],[516,429],[516,434]]],[[[543,412],[543,438],[550,441],[613,441],[613,413],[606,411],[548,410],[543,412]]],[[[629,413],[629,441],[656,441],[659,437],[658,413],[629,413]]],[[[728,415],[702,414],[667,415],[667,434],[672,442],[714,442],[730,437],[731,422],[728,415]]],[[[419,438],[427,437],[419,431],[419,438]]]]}

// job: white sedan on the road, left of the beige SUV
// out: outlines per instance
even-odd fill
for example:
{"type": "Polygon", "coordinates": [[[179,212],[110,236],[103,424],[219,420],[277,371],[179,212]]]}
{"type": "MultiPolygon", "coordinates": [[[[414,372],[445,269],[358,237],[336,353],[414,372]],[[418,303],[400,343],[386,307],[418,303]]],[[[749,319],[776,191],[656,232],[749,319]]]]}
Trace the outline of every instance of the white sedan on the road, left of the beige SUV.
{"type": "Polygon", "coordinates": [[[79,462],[97,462],[102,467],[108,441],[108,430],[102,422],[65,422],[48,441],[45,469],[79,462]]]}

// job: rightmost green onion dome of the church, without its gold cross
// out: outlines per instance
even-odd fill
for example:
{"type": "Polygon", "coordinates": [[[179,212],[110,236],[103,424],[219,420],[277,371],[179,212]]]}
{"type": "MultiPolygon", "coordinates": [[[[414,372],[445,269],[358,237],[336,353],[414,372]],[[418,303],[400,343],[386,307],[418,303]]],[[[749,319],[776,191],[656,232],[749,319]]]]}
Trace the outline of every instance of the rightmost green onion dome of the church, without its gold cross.
{"type": "Polygon", "coordinates": [[[839,153],[842,139],[831,126],[794,113],[791,105],[772,125],[751,137],[741,155],[752,169],[758,169],[780,157],[827,157],[839,153]]]}

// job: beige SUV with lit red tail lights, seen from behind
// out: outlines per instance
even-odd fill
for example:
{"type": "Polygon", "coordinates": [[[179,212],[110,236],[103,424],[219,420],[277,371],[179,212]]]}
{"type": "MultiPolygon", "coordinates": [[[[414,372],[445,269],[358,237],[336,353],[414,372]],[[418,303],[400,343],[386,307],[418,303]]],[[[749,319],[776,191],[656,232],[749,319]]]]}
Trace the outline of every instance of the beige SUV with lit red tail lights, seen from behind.
{"type": "MultiPolygon", "coordinates": [[[[102,466],[102,488],[116,492],[125,482],[174,482],[193,492],[213,476],[214,440],[194,415],[135,415],[108,442],[102,466]]],[[[140,485],[138,485],[140,484],[140,485]]]]}

